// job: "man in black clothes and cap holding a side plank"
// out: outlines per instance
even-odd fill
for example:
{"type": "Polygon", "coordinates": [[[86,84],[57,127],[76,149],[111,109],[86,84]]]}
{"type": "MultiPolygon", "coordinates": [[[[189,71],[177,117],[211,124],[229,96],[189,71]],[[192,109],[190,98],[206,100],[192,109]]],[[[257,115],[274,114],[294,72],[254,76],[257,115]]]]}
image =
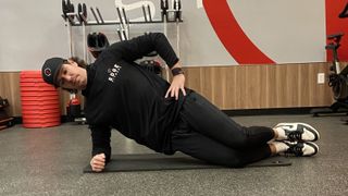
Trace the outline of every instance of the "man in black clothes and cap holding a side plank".
{"type": "Polygon", "coordinates": [[[306,123],[245,127],[185,88],[179,60],[161,33],[113,44],[95,63],[80,66],[76,60],[51,58],[42,66],[42,77],[55,87],[83,90],[92,138],[90,166],[96,172],[110,161],[111,128],[158,152],[182,151],[226,167],[244,167],[281,152],[318,152],[313,142],[319,133],[306,123]],[[171,68],[171,84],[134,62],[152,51],[171,68]]]}

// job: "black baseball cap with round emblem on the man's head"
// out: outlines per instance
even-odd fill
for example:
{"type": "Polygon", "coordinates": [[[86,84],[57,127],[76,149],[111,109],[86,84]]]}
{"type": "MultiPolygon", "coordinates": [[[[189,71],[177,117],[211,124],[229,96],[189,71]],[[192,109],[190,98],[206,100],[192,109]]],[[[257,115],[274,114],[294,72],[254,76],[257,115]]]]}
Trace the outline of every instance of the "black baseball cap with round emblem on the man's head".
{"type": "Polygon", "coordinates": [[[44,81],[48,84],[59,87],[57,76],[62,65],[66,62],[67,60],[62,58],[50,58],[46,60],[41,69],[44,81]]]}

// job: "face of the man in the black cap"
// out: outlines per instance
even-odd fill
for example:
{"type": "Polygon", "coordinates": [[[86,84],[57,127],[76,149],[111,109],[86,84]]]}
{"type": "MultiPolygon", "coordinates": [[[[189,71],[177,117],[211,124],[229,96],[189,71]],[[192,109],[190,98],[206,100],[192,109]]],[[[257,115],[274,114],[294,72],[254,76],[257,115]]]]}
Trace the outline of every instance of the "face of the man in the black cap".
{"type": "Polygon", "coordinates": [[[85,89],[87,86],[87,72],[76,62],[64,63],[58,73],[57,81],[60,87],[69,89],[85,89]]]}

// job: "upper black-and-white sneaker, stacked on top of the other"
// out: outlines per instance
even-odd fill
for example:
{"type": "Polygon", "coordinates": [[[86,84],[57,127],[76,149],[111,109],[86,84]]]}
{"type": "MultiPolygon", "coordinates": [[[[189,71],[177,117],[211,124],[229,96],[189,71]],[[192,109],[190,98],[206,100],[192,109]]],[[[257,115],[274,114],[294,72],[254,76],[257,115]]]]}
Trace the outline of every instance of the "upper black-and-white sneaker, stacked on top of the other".
{"type": "Polygon", "coordinates": [[[287,138],[284,140],[315,142],[320,138],[319,132],[306,123],[279,123],[274,128],[282,128],[287,138]]]}

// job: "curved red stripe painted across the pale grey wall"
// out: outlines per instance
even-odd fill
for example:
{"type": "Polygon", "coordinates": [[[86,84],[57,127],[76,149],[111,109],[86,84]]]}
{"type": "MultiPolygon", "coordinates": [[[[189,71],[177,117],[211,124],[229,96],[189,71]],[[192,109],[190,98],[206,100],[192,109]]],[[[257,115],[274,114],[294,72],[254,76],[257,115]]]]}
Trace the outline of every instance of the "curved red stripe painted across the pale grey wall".
{"type": "Polygon", "coordinates": [[[226,0],[203,0],[203,5],[219,39],[238,63],[274,63],[244,33],[226,0]]]}

